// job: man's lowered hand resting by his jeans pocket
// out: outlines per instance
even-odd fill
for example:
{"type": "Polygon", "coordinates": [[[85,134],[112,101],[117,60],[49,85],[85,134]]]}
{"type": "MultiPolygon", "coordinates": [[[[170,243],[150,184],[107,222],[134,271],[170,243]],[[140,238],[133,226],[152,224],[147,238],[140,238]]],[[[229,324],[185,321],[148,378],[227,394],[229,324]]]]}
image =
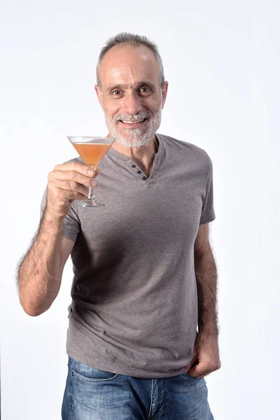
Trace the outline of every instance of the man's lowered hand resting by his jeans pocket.
{"type": "Polygon", "coordinates": [[[199,332],[195,339],[193,359],[188,366],[185,366],[186,372],[190,376],[200,379],[220,367],[218,337],[199,332]]]}

